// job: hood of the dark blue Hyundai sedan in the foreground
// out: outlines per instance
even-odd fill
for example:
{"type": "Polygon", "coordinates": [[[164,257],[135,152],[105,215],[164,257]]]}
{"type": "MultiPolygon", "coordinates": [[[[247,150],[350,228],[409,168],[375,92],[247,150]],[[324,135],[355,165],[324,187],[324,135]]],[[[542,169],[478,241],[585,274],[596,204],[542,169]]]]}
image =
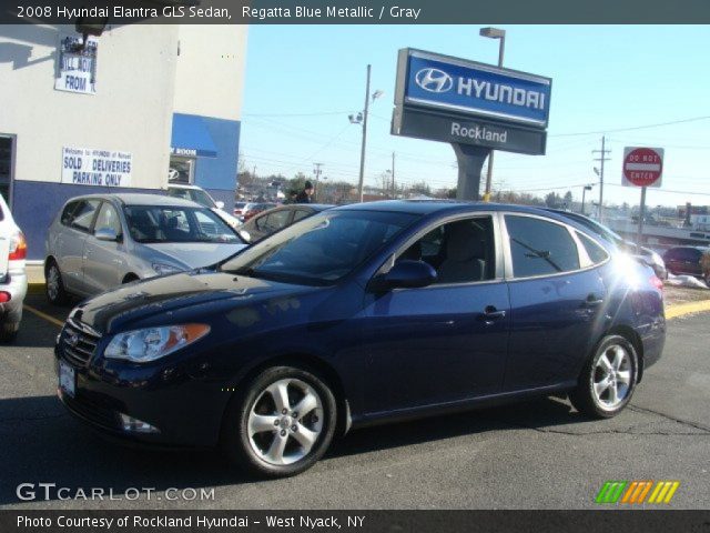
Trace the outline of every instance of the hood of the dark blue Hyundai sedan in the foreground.
{"type": "Polygon", "coordinates": [[[113,333],[131,329],[132,323],[152,320],[158,315],[170,323],[173,314],[220,300],[253,304],[260,300],[308,290],[313,288],[222,272],[184,272],[130,283],[99,294],[81,303],[71,318],[101,334],[113,333]]]}

